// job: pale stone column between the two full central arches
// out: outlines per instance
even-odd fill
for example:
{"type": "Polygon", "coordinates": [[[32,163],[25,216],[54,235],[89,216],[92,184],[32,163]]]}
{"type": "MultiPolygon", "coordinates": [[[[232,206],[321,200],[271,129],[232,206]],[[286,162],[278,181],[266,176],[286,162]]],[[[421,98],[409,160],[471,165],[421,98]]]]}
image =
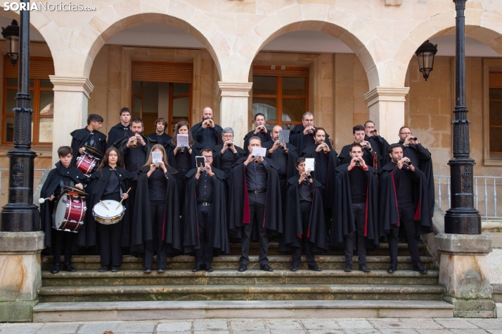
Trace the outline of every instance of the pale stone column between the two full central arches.
{"type": "Polygon", "coordinates": [[[224,82],[218,81],[217,93],[219,98],[219,115],[221,127],[230,126],[235,135],[237,146],[242,147],[247,131],[248,99],[252,82],[224,82]]]}

